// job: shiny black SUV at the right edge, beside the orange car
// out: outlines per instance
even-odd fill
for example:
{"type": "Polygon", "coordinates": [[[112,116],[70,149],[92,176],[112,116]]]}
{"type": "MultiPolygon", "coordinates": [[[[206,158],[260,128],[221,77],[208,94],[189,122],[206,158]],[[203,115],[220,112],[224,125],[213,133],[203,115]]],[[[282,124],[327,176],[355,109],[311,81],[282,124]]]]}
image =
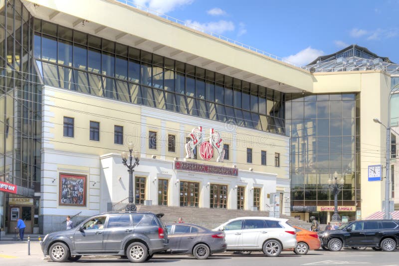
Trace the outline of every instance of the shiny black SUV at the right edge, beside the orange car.
{"type": "Polygon", "coordinates": [[[337,230],[319,234],[321,246],[330,251],[371,247],[394,251],[399,245],[399,220],[361,220],[341,225],[337,230]]]}

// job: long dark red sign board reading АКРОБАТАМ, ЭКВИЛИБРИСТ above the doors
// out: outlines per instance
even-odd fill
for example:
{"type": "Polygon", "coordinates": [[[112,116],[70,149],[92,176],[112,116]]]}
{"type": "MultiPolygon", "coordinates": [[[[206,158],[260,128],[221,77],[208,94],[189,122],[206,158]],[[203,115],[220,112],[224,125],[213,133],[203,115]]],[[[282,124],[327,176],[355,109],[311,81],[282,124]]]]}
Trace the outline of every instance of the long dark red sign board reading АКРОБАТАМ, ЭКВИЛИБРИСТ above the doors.
{"type": "Polygon", "coordinates": [[[175,170],[182,171],[193,171],[193,172],[201,172],[208,174],[220,174],[220,175],[231,175],[238,176],[237,168],[223,167],[223,166],[215,166],[215,165],[207,165],[195,162],[187,162],[187,161],[175,161],[174,163],[175,170]]]}

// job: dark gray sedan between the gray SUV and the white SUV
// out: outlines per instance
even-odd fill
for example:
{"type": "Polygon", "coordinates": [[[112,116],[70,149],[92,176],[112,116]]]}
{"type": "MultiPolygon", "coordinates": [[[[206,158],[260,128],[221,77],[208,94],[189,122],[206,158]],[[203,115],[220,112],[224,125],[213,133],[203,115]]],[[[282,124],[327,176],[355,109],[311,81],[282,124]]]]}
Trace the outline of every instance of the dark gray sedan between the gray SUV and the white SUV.
{"type": "Polygon", "coordinates": [[[214,253],[226,251],[224,232],[214,232],[199,225],[175,223],[166,226],[171,254],[193,254],[204,260],[214,253]]]}

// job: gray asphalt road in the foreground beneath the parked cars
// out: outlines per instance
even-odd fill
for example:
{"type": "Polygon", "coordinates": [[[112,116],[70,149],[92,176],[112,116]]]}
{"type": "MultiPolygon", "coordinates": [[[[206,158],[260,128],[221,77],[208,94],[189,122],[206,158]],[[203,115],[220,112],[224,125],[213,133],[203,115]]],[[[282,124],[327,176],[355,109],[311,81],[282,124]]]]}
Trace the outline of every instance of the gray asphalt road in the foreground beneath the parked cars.
{"type": "MultiPolygon", "coordinates": [[[[57,263],[44,261],[42,257],[18,257],[18,259],[6,259],[0,257],[0,262],[6,266],[26,265],[26,266],[56,266],[57,263]]],[[[67,263],[76,266],[118,266],[130,265],[128,260],[118,259],[86,259],[78,262],[67,263]]],[[[283,252],[277,258],[267,258],[262,253],[251,255],[232,255],[224,253],[211,256],[207,260],[196,260],[193,256],[173,256],[155,255],[150,261],[140,265],[154,266],[257,266],[257,265],[282,265],[282,266],[302,266],[302,265],[370,265],[370,266],[399,266],[399,250],[395,252],[377,252],[371,249],[365,251],[355,251],[344,249],[341,252],[311,251],[308,255],[298,256],[293,252],[283,252]]]]}

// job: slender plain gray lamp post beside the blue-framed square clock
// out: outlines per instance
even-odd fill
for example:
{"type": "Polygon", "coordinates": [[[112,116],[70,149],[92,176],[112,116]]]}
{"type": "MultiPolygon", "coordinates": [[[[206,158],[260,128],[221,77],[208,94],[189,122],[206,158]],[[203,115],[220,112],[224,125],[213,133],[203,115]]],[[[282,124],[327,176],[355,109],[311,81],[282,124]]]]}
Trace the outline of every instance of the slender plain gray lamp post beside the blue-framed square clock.
{"type": "Polygon", "coordinates": [[[390,168],[391,168],[391,99],[392,96],[399,91],[399,84],[391,89],[388,97],[388,125],[385,126],[378,118],[374,118],[375,123],[381,124],[387,129],[387,150],[386,150],[386,176],[385,176],[385,206],[384,206],[384,219],[390,219],[390,168]]]}

